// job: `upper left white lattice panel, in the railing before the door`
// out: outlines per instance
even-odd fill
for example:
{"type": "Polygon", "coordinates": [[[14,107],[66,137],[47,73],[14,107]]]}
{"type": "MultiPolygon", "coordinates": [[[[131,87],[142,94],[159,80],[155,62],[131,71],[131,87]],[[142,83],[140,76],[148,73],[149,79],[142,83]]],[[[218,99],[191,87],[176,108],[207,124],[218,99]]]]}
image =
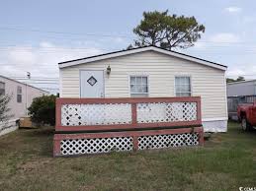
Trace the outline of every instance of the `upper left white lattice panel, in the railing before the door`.
{"type": "Polygon", "coordinates": [[[131,123],[129,103],[63,104],[62,126],[112,125],[131,123]]]}

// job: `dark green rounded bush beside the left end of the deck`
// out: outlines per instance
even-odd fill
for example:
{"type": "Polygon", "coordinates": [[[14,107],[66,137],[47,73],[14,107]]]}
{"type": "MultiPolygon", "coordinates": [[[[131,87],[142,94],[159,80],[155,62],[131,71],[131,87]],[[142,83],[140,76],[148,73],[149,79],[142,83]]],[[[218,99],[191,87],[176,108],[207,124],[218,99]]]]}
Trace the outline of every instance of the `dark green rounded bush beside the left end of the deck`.
{"type": "Polygon", "coordinates": [[[56,96],[40,96],[33,99],[28,108],[32,121],[40,124],[55,124],[55,100],[56,96]]]}

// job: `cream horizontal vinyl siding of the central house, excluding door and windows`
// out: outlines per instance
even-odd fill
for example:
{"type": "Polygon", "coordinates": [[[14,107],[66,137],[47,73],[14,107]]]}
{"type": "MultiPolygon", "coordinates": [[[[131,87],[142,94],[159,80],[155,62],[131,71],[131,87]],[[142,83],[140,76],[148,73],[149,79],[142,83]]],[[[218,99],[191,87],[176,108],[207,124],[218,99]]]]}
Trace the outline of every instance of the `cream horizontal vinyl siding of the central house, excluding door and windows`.
{"type": "Polygon", "coordinates": [[[79,71],[104,70],[105,96],[127,97],[129,75],[148,76],[149,96],[175,96],[175,76],[191,77],[192,96],[202,96],[203,118],[226,118],[224,71],[209,66],[145,51],[60,69],[61,96],[79,97],[79,71]],[[106,74],[108,65],[111,74],[106,74]]]}

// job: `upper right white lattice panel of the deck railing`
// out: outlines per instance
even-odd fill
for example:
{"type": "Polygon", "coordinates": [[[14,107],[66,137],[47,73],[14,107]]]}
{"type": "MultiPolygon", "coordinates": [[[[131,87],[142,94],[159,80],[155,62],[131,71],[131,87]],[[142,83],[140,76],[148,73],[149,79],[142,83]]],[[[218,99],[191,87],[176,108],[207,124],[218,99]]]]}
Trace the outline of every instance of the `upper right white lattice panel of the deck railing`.
{"type": "Polygon", "coordinates": [[[137,122],[173,122],[197,120],[196,102],[138,103],[137,122]]]}

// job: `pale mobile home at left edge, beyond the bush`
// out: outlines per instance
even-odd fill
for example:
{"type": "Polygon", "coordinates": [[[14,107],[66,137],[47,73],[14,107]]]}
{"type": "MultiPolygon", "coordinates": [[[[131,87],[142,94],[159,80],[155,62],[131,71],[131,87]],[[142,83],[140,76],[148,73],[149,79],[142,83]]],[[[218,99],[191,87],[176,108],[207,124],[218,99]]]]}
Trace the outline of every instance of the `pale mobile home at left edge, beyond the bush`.
{"type": "Polygon", "coordinates": [[[1,95],[11,96],[8,107],[11,109],[9,114],[12,115],[8,123],[0,123],[0,135],[3,135],[18,128],[16,121],[28,115],[27,108],[33,98],[48,95],[48,92],[0,75],[1,95]]]}

